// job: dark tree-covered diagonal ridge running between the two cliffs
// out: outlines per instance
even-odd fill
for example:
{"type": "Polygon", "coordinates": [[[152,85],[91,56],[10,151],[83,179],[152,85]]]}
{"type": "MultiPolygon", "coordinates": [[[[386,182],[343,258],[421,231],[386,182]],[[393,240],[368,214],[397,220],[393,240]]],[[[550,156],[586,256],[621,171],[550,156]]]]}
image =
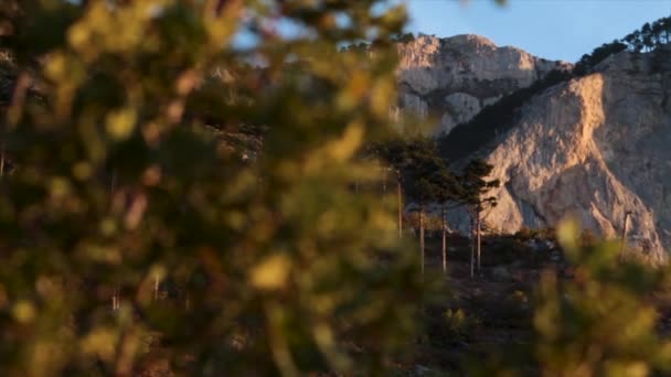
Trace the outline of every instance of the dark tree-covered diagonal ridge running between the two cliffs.
{"type": "MultiPolygon", "coordinates": [[[[406,37],[407,39],[407,37],[406,37]]],[[[552,71],[544,78],[529,87],[503,96],[496,104],[482,109],[470,121],[460,123],[438,141],[440,153],[451,161],[465,158],[491,142],[497,134],[508,131],[514,123],[520,108],[536,94],[571,78],[584,76],[606,57],[629,50],[633,53],[652,52],[658,46],[671,42],[671,17],[647,22],[636,30],[610,43],[594,49],[575,64],[572,71],[552,71]]]]}

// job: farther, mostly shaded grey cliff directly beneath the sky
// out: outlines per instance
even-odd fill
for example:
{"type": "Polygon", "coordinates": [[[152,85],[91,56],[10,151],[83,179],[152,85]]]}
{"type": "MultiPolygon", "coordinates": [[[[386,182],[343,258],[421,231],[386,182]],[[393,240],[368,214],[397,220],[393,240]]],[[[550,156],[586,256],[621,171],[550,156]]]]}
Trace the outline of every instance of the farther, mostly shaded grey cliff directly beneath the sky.
{"type": "Polygon", "coordinates": [[[550,71],[571,66],[515,47],[498,47],[478,35],[420,35],[398,44],[398,105],[406,114],[436,119],[436,134],[448,133],[502,95],[530,86],[550,71]]]}

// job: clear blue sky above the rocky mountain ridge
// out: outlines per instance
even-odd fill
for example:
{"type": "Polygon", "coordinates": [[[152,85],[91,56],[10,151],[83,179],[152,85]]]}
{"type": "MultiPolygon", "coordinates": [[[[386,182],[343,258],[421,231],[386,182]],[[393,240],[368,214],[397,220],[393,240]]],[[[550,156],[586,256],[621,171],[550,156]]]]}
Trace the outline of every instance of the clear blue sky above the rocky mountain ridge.
{"type": "Polygon", "coordinates": [[[575,62],[604,42],[671,15],[671,0],[407,0],[408,31],[450,36],[472,33],[498,45],[575,62]]]}

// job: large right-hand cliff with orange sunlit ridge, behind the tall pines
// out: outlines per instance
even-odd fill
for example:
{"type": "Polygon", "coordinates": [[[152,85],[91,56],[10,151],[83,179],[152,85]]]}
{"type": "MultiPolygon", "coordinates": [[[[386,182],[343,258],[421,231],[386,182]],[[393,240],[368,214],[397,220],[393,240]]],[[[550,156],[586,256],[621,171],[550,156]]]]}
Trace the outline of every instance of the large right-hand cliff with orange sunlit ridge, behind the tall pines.
{"type": "Polygon", "coordinates": [[[548,88],[484,153],[501,180],[487,217],[505,233],[572,215],[653,261],[671,250],[671,53],[611,56],[548,88]],[[663,57],[665,56],[665,58],[663,57]],[[661,58],[660,58],[661,57],[661,58]]]}

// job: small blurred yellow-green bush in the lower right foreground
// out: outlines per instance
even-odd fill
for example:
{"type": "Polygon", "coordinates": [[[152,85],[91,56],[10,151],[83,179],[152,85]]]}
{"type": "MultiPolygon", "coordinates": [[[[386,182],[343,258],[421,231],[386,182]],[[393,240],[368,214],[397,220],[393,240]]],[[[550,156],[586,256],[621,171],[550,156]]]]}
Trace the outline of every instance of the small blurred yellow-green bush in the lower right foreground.
{"type": "Polygon", "coordinates": [[[500,353],[479,375],[662,376],[671,341],[659,333],[653,298],[669,290],[667,268],[625,258],[619,245],[584,244],[576,223],[557,228],[573,277],[547,270],[536,289],[534,340],[500,353]]]}

